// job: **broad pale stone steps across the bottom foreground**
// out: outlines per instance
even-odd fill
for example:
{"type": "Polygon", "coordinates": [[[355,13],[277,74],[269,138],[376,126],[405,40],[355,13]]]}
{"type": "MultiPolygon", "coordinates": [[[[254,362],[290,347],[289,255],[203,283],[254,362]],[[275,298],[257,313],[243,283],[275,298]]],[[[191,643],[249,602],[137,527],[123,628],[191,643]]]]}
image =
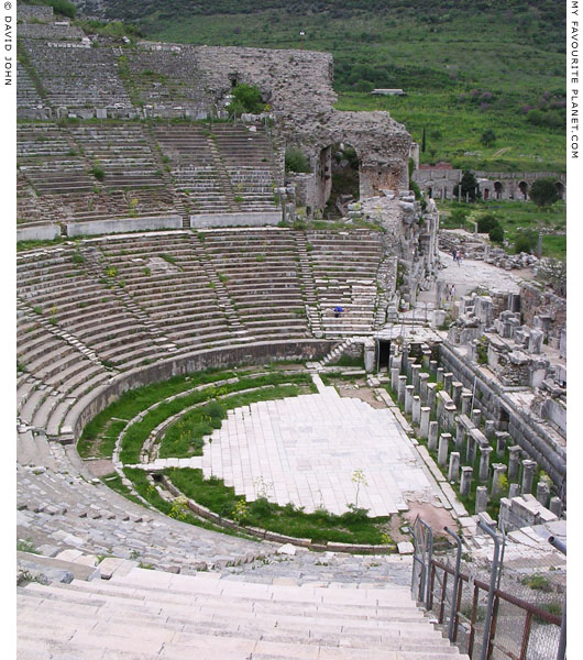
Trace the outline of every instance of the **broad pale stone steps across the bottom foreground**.
{"type": "MultiPolygon", "coordinates": [[[[114,559],[94,569],[80,559],[64,578],[68,583],[57,578],[18,587],[20,659],[468,658],[425,617],[407,587],[257,584],[217,573],[148,571],[114,559]]],[[[66,565],[59,562],[62,572],[66,565]]]]}

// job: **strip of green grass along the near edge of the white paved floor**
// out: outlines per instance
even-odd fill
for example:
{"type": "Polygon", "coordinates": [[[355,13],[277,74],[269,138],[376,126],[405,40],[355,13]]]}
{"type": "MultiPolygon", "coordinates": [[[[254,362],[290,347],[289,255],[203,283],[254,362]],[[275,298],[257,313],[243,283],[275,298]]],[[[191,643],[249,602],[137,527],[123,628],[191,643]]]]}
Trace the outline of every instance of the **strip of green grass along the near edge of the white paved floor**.
{"type": "Polygon", "coordinates": [[[353,509],[341,516],[326,510],[306,514],[293,504],[279,506],[265,497],[245,502],[243,497],[235,495],[233,487],[226,486],[222,480],[205,480],[201,470],[169,469],[165,474],[187,497],[220,516],[238,519],[245,526],[314,541],[392,543],[388,537],[388,516],[367,518],[363,509],[353,509]]]}

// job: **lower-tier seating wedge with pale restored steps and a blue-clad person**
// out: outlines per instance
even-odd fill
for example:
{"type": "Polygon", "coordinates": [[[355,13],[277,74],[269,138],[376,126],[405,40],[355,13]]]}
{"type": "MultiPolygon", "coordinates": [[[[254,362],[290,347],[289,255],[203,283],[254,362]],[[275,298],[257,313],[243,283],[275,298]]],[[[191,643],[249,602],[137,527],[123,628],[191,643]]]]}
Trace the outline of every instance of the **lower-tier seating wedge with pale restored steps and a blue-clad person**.
{"type": "Polygon", "coordinates": [[[308,231],[307,240],[324,336],[372,332],[382,258],[380,234],[369,230],[308,231]],[[337,306],[343,309],[338,318],[337,306]]]}

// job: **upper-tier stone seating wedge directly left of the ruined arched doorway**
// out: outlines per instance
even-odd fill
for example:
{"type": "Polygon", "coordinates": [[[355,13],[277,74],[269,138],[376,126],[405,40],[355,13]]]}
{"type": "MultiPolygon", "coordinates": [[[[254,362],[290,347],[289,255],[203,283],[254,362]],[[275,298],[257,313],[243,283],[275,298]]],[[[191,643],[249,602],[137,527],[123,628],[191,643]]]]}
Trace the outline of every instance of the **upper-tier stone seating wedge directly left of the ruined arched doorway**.
{"type": "Polygon", "coordinates": [[[274,211],[275,180],[270,143],[263,129],[217,124],[212,129],[231,185],[243,211],[274,211]]]}

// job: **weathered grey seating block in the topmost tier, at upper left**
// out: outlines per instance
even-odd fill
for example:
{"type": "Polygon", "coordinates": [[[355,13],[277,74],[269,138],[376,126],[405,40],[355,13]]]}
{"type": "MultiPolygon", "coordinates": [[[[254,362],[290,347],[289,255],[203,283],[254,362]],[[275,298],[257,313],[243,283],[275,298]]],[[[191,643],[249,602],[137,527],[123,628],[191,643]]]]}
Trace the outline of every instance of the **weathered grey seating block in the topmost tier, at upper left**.
{"type": "Polygon", "coordinates": [[[120,54],[113,47],[91,47],[82,42],[53,44],[40,38],[21,42],[55,108],[88,117],[95,116],[96,108],[111,108],[121,117],[135,116],[118,74],[120,54]]]}

